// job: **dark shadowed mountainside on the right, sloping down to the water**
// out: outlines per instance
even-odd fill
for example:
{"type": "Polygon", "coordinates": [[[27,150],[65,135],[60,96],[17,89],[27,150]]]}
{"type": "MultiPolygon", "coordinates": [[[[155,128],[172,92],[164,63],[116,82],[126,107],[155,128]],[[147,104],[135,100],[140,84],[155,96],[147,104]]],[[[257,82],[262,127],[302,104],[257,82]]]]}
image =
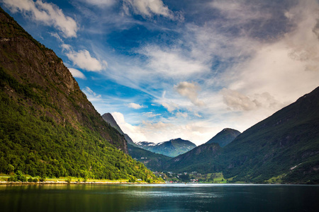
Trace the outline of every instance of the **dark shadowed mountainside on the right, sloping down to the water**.
{"type": "Polygon", "coordinates": [[[223,172],[244,182],[319,183],[319,88],[255,124],[224,148],[206,143],[169,171],[223,172]],[[203,159],[203,158],[206,158],[203,159]]]}

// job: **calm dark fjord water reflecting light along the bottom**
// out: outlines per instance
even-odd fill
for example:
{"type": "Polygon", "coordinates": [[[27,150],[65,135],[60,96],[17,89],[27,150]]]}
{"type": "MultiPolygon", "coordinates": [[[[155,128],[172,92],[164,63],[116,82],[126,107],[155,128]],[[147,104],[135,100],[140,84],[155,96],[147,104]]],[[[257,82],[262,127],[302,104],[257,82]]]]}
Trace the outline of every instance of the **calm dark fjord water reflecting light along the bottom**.
{"type": "Polygon", "coordinates": [[[0,211],[318,211],[319,186],[1,185],[0,211]]]}

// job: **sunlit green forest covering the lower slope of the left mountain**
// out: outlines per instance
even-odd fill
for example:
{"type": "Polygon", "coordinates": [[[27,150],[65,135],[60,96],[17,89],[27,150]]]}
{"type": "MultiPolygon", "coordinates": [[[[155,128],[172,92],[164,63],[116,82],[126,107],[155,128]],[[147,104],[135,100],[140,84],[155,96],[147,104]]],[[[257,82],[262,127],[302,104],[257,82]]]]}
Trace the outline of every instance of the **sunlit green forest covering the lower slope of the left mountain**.
{"type": "Polygon", "coordinates": [[[28,112],[26,100],[16,102],[3,92],[4,86],[0,89],[0,172],[144,181],[154,177],[94,131],[61,126],[45,114],[28,112]]]}

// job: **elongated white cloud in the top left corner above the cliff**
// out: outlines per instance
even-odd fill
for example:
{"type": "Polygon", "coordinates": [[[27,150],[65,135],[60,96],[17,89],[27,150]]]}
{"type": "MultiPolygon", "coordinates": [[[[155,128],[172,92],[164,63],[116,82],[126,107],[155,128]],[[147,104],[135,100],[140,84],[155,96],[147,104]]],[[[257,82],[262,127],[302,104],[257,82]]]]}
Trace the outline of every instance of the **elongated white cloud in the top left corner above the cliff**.
{"type": "Polygon", "coordinates": [[[65,16],[55,4],[41,0],[4,0],[4,4],[13,13],[20,11],[33,20],[57,28],[64,37],[77,37],[77,22],[73,18],[65,16]]]}

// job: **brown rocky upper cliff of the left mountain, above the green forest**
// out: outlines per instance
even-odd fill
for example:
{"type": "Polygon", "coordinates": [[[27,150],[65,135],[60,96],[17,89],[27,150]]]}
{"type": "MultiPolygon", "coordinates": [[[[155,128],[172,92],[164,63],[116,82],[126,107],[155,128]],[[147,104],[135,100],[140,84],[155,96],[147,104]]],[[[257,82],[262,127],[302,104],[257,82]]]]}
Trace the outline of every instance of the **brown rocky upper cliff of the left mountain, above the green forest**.
{"type": "Polygon", "coordinates": [[[16,101],[26,99],[22,104],[33,108],[38,116],[45,114],[57,124],[69,123],[75,129],[85,126],[127,153],[123,136],[110,135],[108,124],[82,93],[62,59],[34,40],[1,8],[0,24],[1,69],[28,88],[19,92],[6,85],[5,92],[16,101]]]}

